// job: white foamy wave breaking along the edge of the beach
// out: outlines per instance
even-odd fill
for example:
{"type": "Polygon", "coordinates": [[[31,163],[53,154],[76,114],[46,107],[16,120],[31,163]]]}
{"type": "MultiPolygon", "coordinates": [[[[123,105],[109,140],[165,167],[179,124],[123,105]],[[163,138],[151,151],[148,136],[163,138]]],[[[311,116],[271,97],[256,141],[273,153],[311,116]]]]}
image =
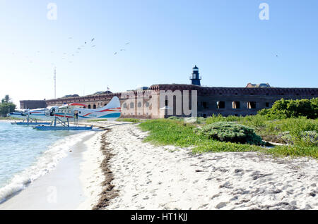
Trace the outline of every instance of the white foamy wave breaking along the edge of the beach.
{"type": "Polygon", "coordinates": [[[16,173],[11,181],[8,182],[8,185],[0,188],[0,204],[25,189],[25,187],[28,187],[28,185],[37,178],[53,170],[59,161],[67,156],[67,152],[88,135],[93,135],[93,132],[81,132],[76,135],[64,137],[48,147],[46,151],[40,154],[32,166],[20,173],[16,173]]]}

